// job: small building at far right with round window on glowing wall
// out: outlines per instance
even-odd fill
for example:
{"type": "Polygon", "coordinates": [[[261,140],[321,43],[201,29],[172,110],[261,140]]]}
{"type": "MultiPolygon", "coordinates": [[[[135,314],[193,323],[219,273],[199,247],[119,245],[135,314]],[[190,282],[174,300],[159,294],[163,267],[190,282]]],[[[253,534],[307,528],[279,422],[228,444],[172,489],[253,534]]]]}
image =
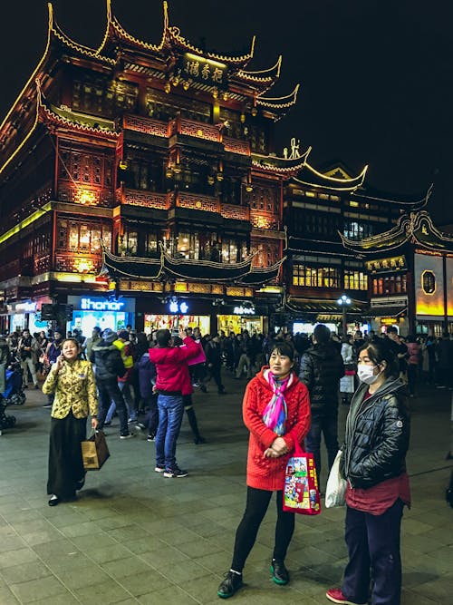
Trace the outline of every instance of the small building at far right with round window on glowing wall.
{"type": "Polygon", "coordinates": [[[419,206],[381,233],[342,236],[345,249],[364,260],[376,331],[395,325],[403,335],[453,332],[453,238],[419,206]]]}

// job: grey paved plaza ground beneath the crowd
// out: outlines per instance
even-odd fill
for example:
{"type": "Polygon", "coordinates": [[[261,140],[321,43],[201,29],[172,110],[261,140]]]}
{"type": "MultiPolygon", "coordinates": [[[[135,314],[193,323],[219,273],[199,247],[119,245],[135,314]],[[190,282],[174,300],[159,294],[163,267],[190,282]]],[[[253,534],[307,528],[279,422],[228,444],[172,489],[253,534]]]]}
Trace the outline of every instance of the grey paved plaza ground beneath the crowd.
{"type": "MultiPolygon", "coordinates": [[[[154,444],[145,435],[120,441],[117,424],[106,429],[110,460],[88,474],[78,501],[54,508],[45,493],[44,395],[29,390],[24,406],[8,408],[17,426],[0,436],[0,605],[218,605],[246,495],[246,381],[225,382],[225,396],[214,386],[195,395],[207,444],[193,443],[184,419],[178,464],[187,478],[155,473],[154,444]]],[[[445,502],[450,396],[422,387],[410,400],[413,505],[402,523],[402,605],[453,603],[453,510],[445,502]]],[[[346,411],[341,406],[341,433],[346,411]]],[[[343,525],[342,508],[297,515],[286,560],[291,583],[279,587],[269,573],[273,503],[246,564],[246,588],[231,602],[325,605],[346,561],[343,525]]]]}

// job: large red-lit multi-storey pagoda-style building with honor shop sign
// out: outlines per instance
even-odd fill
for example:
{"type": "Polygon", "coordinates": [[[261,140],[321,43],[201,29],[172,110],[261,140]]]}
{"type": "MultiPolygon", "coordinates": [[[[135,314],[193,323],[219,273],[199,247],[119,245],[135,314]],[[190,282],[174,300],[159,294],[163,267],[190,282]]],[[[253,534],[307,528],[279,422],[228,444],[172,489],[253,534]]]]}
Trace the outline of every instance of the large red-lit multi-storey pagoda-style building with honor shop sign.
{"type": "Polygon", "coordinates": [[[0,125],[3,323],[68,327],[178,320],[267,329],[280,300],[284,182],[304,154],[273,153],[297,89],[269,92],[281,58],[250,70],[169,24],[158,44],[112,15],[98,48],[49,5],[41,61],[0,125]],[[59,307],[44,307],[55,304],[59,307]],[[66,307],[64,307],[66,306],[66,307]]]}

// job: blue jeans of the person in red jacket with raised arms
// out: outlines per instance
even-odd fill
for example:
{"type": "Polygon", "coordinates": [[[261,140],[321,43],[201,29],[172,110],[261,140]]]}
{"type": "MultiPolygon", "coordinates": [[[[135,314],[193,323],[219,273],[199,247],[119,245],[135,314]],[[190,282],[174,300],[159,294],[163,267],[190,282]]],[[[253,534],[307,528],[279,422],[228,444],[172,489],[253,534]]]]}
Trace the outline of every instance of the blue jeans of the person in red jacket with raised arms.
{"type": "Polygon", "coordinates": [[[170,470],[176,466],[176,442],[184,414],[182,395],[158,395],[158,408],[156,464],[170,470]]]}

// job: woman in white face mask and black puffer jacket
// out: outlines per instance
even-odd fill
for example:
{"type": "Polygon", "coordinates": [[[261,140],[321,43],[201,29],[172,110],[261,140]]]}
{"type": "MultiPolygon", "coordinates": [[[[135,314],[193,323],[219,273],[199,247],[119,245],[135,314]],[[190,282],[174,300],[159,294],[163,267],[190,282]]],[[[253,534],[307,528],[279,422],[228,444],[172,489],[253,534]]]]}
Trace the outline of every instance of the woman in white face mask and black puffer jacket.
{"type": "Polygon", "coordinates": [[[349,562],[342,589],[327,591],[335,603],[400,605],[400,523],[410,506],[406,453],[410,418],[405,385],[385,341],[361,347],[361,385],[346,421],[340,470],[347,480],[346,533],[349,562]]]}

